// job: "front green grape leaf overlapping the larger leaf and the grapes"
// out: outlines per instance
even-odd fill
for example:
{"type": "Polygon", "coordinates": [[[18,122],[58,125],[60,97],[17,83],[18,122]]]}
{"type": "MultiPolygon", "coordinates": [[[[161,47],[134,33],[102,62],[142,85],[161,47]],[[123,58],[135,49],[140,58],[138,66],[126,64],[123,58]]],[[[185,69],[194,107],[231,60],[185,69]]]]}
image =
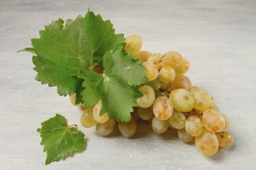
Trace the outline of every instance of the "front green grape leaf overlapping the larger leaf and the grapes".
{"type": "Polygon", "coordinates": [[[78,77],[85,79],[82,92],[85,108],[92,107],[102,100],[101,114],[106,111],[110,118],[118,121],[130,121],[130,113],[137,106],[135,99],[142,93],[135,85],[147,83],[145,67],[139,60],[131,59],[123,51],[123,46],[116,47],[103,57],[105,73],[83,70],[78,77]]]}

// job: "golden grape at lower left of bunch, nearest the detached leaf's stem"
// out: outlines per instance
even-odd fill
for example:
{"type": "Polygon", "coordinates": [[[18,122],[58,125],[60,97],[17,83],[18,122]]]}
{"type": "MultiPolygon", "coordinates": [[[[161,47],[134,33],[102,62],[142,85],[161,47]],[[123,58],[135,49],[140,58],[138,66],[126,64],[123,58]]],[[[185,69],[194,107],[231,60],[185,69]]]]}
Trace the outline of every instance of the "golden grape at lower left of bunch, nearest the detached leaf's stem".
{"type": "Polygon", "coordinates": [[[92,128],[97,124],[93,117],[93,107],[86,109],[81,114],[81,125],[85,128],[92,128]]]}

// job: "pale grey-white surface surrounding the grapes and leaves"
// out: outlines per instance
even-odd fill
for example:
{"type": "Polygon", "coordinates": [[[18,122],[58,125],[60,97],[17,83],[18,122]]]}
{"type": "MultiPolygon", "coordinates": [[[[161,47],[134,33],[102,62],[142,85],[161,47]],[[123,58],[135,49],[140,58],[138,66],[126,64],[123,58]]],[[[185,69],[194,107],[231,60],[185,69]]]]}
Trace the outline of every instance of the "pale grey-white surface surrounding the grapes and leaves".
{"type": "Polygon", "coordinates": [[[255,169],[256,1],[0,0],[0,169],[255,169]],[[102,138],[80,125],[81,111],[55,87],[34,80],[29,39],[53,19],[88,8],[111,19],[116,32],[140,34],[143,49],[175,50],[188,58],[193,85],[211,93],[230,118],[234,147],[207,158],[173,131],[139,127],[136,138],[102,138]],[[45,166],[36,128],[55,113],[78,124],[86,151],[45,166]],[[144,133],[146,132],[146,133],[144,133]]]}

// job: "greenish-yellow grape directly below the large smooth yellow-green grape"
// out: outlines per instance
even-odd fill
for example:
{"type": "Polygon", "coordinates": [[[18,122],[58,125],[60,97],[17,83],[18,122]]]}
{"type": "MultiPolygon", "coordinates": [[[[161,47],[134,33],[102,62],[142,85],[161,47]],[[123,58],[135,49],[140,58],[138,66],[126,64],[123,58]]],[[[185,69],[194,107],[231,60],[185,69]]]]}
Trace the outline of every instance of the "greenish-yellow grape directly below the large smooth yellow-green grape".
{"type": "Polygon", "coordinates": [[[169,119],[169,125],[175,129],[182,129],[185,128],[185,115],[178,110],[173,110],[171,117],[169,119]]]}

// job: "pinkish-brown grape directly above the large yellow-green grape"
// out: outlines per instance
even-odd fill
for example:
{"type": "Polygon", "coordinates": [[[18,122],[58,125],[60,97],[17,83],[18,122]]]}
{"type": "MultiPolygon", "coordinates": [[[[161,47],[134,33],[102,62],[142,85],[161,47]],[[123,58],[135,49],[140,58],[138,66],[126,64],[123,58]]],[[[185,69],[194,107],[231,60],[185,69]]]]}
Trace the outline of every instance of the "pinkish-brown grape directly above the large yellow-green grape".
{"type": "Polygon", "coordinates": [[[172,89],[185,89],[189,90],[192,86],[191,80],[189,77],[181,75],[175,76],[175,79],[171,81],[171,88],[172,89]]]}

